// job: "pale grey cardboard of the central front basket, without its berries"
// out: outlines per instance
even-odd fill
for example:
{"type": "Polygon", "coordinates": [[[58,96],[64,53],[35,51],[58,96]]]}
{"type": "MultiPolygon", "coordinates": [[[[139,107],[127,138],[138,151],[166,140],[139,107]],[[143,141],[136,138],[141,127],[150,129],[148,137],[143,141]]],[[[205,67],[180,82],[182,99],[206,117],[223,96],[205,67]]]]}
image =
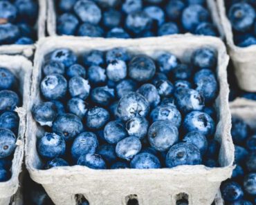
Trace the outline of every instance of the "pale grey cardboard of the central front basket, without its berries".
{"type": "Polygon", "coordinates": [[[33,86],[28,109],[42,101],[39,85],[42,79],[44,56],[57,48],[70,48],[77,55],[89,50],[109,50],[124,47],[134,54],[146,54],[155,58],[159,51],[172,52],[184,62],[196,48],[212,46],[217,52],[217,79],[219,95],[214,106],[217,108],[217,131],[214,134],[221,144],[219,168],[207,168],[203,165],[177,166],[160,169],[124,169],[93,170],[86,166],[66,166],[42,170],[36,141],[44,134],[34,121],[30,111],[27,115],[26,130],[26,167],[30,177],[42,184],[57,205],[75,205],[75,195],[84,195],[90,205],[127,204],[129,198],[135,197],[140,205],[174,205],[181,197],[189,204],[211,204],[221,182],[232,173],[234,146],[230,137],[231,118],[228,108],[228,83],[226,67],[228,55],[222,41],[214,37],[193,37],[191,35],[174,35],[147,39],[93,39],[86,37],[48,37],[37,43],[35,67],[33,69],[33,86]]]}

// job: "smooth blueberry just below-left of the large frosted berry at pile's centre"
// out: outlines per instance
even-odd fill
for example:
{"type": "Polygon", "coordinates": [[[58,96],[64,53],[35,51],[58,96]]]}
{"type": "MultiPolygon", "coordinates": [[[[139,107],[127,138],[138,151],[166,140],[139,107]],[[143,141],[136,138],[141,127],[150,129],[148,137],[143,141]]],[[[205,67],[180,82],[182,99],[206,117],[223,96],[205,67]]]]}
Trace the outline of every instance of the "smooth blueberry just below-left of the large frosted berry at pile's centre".
{"type": "Polygon", "coordinates": [[[104,127],[104,138],[109,144],[116,144],[121,139],[127,137],[128,133],[125,130],[125,124],[120,120],[109,121],[104,127]]]}

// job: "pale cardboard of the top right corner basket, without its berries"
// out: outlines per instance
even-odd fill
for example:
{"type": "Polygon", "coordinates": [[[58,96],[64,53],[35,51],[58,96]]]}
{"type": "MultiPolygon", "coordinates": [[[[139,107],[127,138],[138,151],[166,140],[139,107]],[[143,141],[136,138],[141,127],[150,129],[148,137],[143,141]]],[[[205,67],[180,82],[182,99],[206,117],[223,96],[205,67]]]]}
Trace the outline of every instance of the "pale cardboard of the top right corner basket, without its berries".
{"type": "Polygon", "coordinates": [[[225,1],[217,0],[223,31],[228,44],[228,52],[234,64],[237,82],[242,90],[256,92],[256,45],[241,48],[235,45],[232,26],[226,15],[225,1]]]}

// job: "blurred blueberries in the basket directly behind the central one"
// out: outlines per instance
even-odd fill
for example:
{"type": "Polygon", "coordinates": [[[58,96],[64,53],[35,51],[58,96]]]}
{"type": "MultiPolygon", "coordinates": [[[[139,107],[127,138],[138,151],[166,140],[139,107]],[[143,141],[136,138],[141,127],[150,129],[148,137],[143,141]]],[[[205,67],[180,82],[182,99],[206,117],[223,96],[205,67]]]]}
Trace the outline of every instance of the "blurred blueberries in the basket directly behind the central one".
{"type": "Polygon", "coordinates": [[[59,0],[57,34],[140,38],[191,32],[219,36],[205,0],[59,0]]]}

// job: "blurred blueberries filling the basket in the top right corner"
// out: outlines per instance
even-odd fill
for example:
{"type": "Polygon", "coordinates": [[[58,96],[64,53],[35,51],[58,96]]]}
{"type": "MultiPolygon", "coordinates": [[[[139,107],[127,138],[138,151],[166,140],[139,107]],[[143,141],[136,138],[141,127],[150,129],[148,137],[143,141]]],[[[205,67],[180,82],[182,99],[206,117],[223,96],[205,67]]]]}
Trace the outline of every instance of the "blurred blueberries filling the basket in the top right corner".
{"type": "Polygon", "coordinates": [[[226,1],[228,19],[232,25],[237,46],[247,47],[256,44],[256,1],[226,1]]]}

